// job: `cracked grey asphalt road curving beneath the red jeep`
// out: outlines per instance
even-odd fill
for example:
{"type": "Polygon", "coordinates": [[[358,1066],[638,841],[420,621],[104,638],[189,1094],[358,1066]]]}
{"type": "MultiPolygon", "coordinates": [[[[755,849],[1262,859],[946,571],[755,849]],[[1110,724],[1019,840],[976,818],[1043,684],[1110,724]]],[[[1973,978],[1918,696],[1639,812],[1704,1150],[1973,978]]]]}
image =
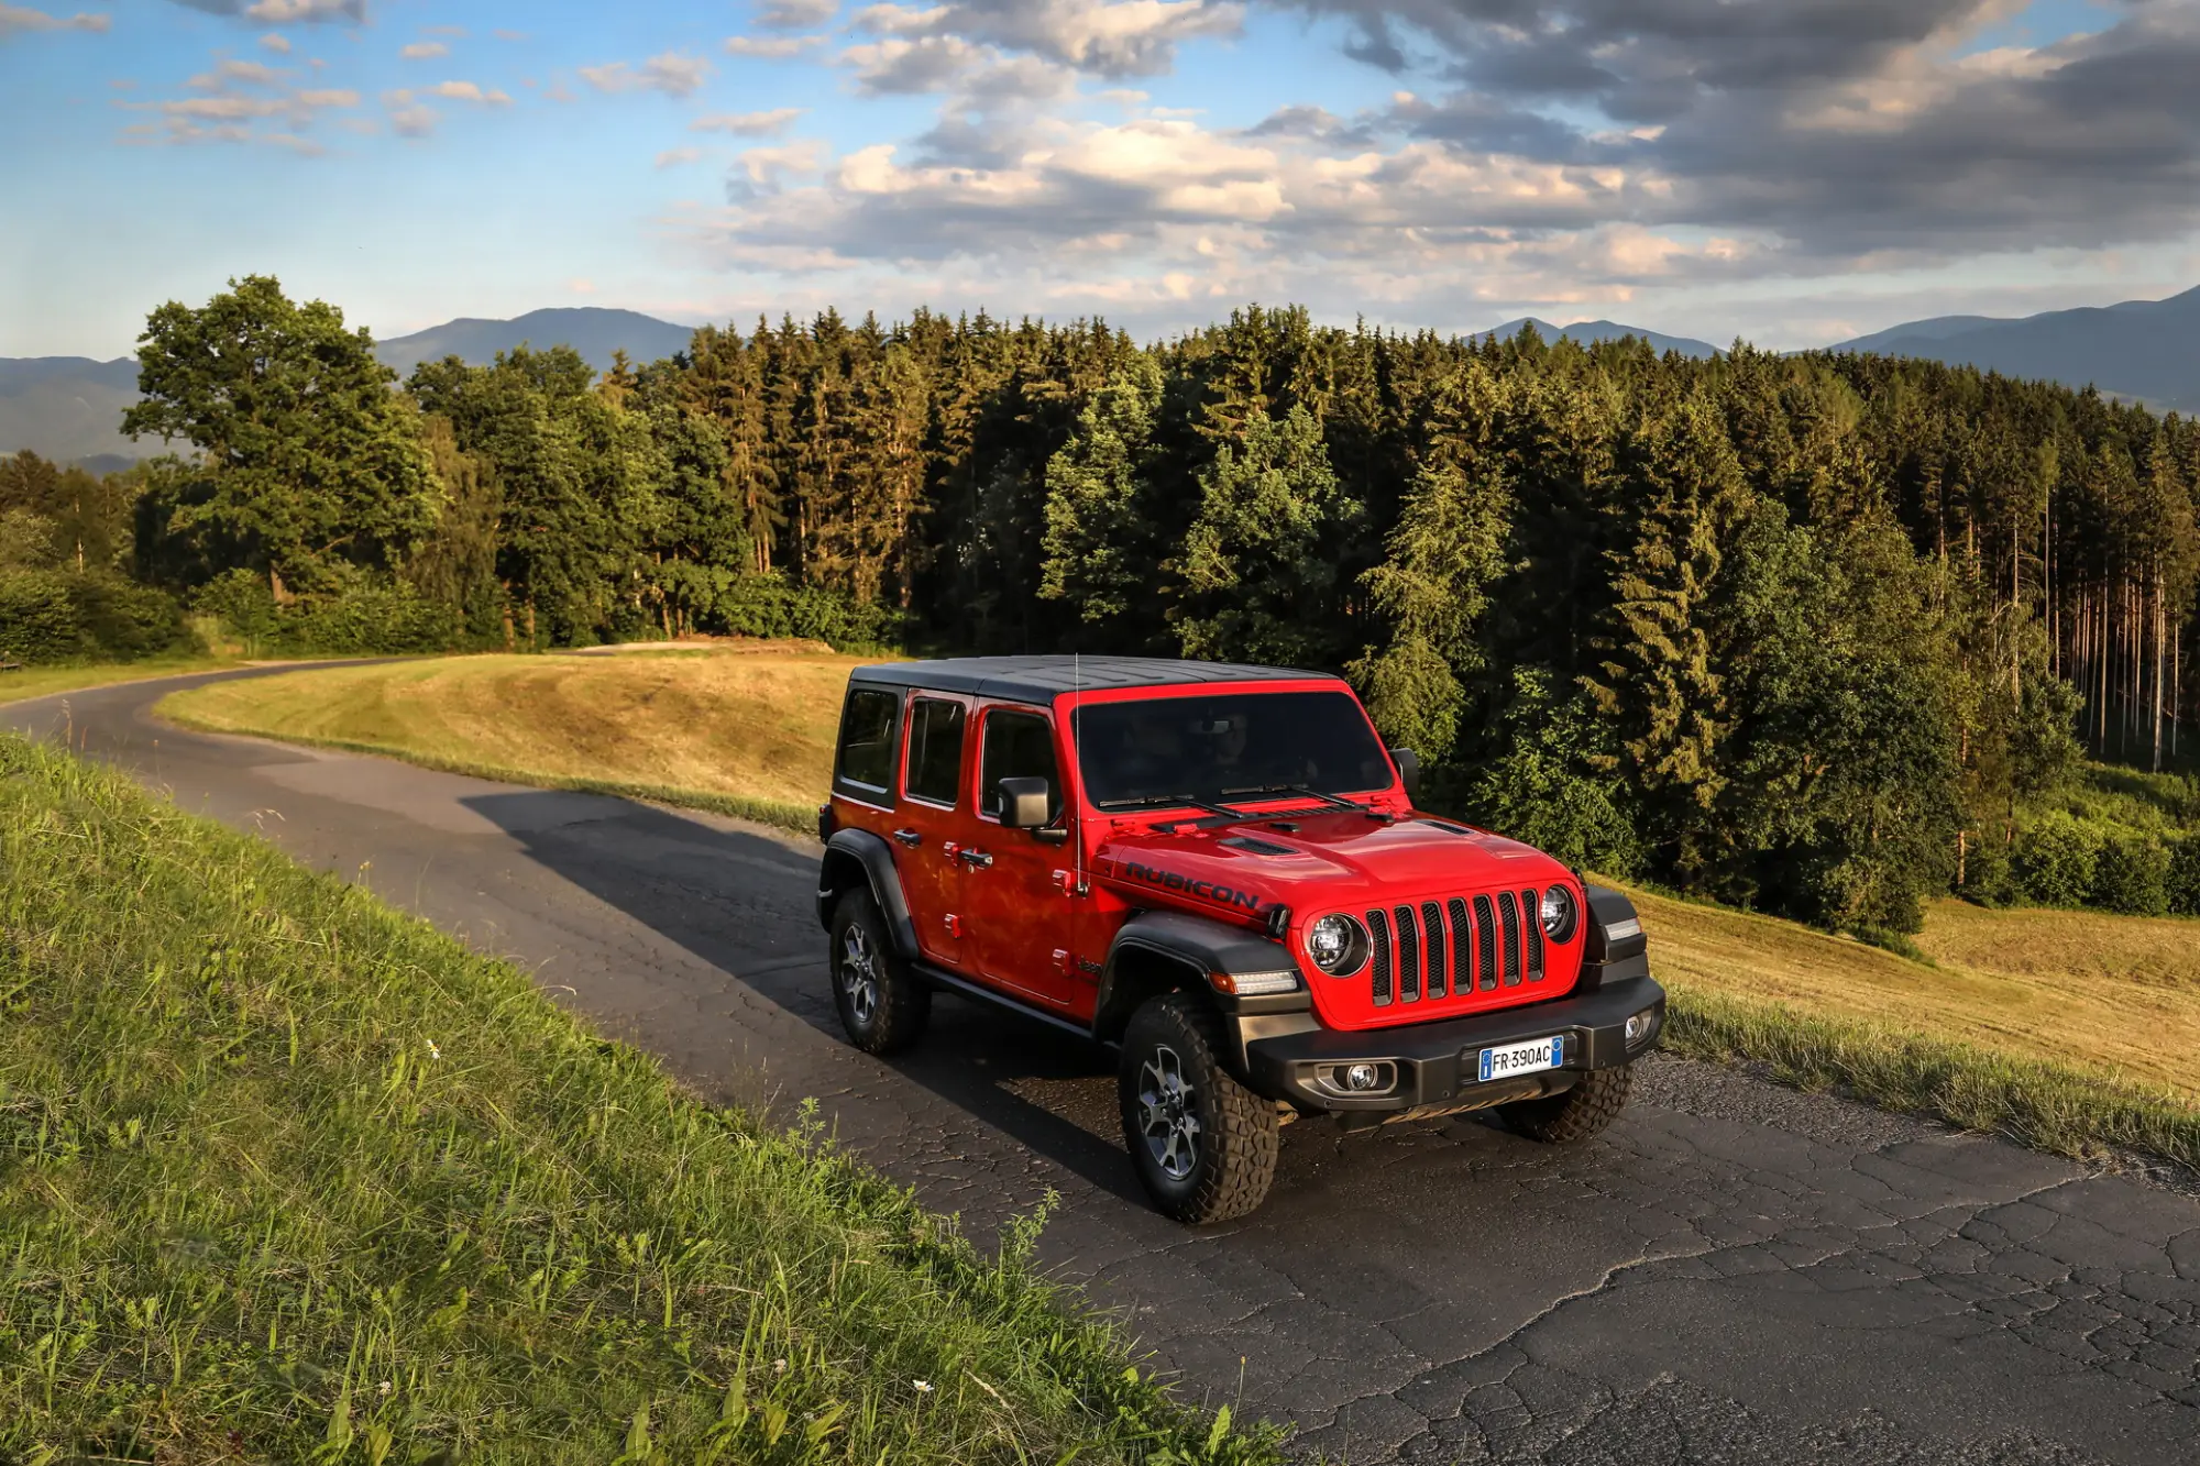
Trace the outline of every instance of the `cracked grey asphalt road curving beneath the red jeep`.
{"type": "Polygon", "coordinates": [[[975,1235],[1058,1193],[1065,1277],[1331,1459],[2200,1462],[2193,1195],[1659,1059],[1571,1151],[1296,1125],[1261,1213],[1184,1230],[1140,1202],[1102,1052],[957,999],[904,1059],[840,1041],[814,845],[150,715],[198,680],[0,722],[363,874],[708,1094],[816,1096],[975,1235]]]}

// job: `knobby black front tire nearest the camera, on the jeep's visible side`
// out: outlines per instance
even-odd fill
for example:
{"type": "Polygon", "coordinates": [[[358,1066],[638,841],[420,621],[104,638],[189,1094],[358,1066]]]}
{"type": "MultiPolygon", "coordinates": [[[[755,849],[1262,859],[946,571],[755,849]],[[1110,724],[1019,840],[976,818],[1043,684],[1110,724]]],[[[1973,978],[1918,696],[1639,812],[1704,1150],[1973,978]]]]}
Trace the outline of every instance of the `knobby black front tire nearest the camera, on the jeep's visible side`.
{"type": "Polygon", "coordinates": [[[1151,999],[1131,1015],[1131,1026],[1122,1035],[1115,1090],[1122,1098],[1122,1140],[1131,1151],[1131,1167],[1153,1197],[1155,1211],[1190,1226],[1243,1217],[1267,1197],[1267,1186],[1276,1178],[1276,1147],[1283,1134],[1276,1105],[1241,1085],[1223,1068],[1221,1052],[1219,1017],[1186,993],[1151,999]],[[1168,1169],[1184,1164],[1181,1151],[1175,1162],[1164,1162],[1148,1142],[1146,1101],[1157,1076],[1148,1065],[1162,1072],[1173,1068],[1181,1076],[1188,1090],[1184,1112],[1199,1125],[1192,1160],[1181,1175],[1168,1169]]]}

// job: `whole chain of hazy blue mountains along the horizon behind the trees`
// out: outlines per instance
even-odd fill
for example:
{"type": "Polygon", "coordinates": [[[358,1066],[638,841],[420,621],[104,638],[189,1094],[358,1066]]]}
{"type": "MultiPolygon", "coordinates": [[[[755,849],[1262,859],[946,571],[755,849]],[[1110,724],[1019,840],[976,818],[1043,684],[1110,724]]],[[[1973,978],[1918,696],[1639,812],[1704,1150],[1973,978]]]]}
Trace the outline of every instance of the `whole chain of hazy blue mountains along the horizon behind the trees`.
{"type": "MultiPolygon", "coordinates": [[[[1571,337],[1591,343],[1641,337],[1661,352],[1718,354],[1709,341],[1668,337],[1617,321],[1553,326],[1522,317],[1476,335],[1514,337],[1529,324],[1547,339],[1571,337]]],[[[400,376],[440,357],[488,363],[497,352],[521,343],[572,346],[603,372],[609,370],[616,350],[625,350],[636,363],[656,361],[684,350],[691,335],[691,326],[660,321],[653,315],[583,306],[530,310],[510,321],[464,317],[409,337],[392,337],[374,350],[400,376]]],[[[2165,412],[2200,412],[2200,288],[2169,299],[2050,310],[2024,319],[1938,315],[1874,330],[1830,350],[1969,363],[2004,376],[2044,376],[2072,387],[2092,383],[2101,392],[2165,412]]],[[[95,471],[158,453],[158,442],[132,442],[117,431],[123,409],[134,401],[132,357],[117,361],[0,357],[0,453],[31,449],[59,462],[88,460],[95,471]]]]}

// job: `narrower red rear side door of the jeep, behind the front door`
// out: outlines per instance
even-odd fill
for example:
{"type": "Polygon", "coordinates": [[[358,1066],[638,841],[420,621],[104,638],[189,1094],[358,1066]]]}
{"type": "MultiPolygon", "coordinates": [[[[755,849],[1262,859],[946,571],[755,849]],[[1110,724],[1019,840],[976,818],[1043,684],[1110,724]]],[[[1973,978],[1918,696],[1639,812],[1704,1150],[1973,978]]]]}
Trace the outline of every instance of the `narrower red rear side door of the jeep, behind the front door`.
{"type": "Polygon", "coordinates": [[[902,872],[909,920],[928,962],[966,966],[961,850],[970,825],[966,746],[968,698],[913,693],[902,790],[895,803],[893,863],[902,872]]]}

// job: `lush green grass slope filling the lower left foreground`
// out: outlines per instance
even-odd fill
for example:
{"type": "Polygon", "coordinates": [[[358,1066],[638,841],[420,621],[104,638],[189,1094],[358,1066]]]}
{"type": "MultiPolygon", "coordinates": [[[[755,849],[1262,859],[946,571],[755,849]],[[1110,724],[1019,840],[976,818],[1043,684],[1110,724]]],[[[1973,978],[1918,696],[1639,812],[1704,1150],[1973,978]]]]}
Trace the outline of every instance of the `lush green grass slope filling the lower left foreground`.
{"type": "Polygon", "coordinates": [[[0,1459],[1272,1462],[906,1191],[0,735],[0,1459]]]}

